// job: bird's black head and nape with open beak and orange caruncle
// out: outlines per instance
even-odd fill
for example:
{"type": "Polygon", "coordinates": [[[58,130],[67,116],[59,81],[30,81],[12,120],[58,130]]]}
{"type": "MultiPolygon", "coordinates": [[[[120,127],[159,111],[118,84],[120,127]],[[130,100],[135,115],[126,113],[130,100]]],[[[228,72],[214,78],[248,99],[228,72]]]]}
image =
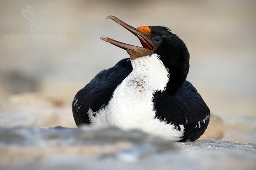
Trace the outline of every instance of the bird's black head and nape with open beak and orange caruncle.
{"type": "Polygon", "coordinates": [[[170,32],[169,28],[163,26],[141,26],[134,28],[114,16],[108,16],[108,18],[137,36],[143,47],[129,45],[108,37],[101,37],[102,40],[125,49],[130,55],[131,60],[157,54],[165,67],[168,68],[170,78],[175,79],[178,83],[175,86],[178,88],[183,84],[189,72],[189,52],[185,43],[170,32]]]}

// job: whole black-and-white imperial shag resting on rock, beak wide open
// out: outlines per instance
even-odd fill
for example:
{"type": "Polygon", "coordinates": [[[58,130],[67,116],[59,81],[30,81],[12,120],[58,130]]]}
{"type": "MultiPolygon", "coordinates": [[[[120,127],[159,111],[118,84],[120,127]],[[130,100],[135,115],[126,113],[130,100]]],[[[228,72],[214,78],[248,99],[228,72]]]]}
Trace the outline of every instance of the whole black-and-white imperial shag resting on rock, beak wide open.
{"type": "Polygon", "coordinates": [[[206,130],[210,111],[186,81],[189,52],[169,28],[134,28],[108,16],[138,37],[143,47],[107,37],[130,58],[99,72],[73,100],[76,125],[138,128],[172,142],[194,141],[206,130]]]}

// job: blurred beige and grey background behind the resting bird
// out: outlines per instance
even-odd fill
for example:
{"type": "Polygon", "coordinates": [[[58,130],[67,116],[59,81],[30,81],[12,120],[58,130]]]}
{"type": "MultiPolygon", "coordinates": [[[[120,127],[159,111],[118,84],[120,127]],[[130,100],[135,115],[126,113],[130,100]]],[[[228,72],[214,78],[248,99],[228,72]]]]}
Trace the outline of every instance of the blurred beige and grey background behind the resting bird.
{"type": "MultiPolygon", "coordinates": [[[[76,127],[71,103],[126,51],[131,26],[167,26],[187,45],[187,80],[224,122],[223,139],[256,143],[255,0],[1,0],[0,125],[76,127]]],[[[214,127],[220,128],[220,127],[214,127]]]]}

